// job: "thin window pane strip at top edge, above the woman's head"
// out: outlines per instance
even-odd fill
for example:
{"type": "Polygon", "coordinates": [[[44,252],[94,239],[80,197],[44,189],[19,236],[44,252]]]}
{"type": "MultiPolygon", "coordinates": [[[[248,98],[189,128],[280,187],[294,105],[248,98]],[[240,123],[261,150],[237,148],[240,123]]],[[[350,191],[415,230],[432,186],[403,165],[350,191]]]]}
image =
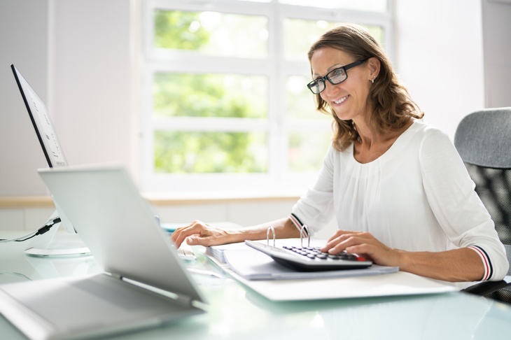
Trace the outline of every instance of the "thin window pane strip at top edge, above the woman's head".
{"type": "Polygon", "coordinates": [[[349,10],[367,10],[384,13],[387,11],[387,0],[279,0],[280,3],[320,8],[339,8],[349,10]]]}

